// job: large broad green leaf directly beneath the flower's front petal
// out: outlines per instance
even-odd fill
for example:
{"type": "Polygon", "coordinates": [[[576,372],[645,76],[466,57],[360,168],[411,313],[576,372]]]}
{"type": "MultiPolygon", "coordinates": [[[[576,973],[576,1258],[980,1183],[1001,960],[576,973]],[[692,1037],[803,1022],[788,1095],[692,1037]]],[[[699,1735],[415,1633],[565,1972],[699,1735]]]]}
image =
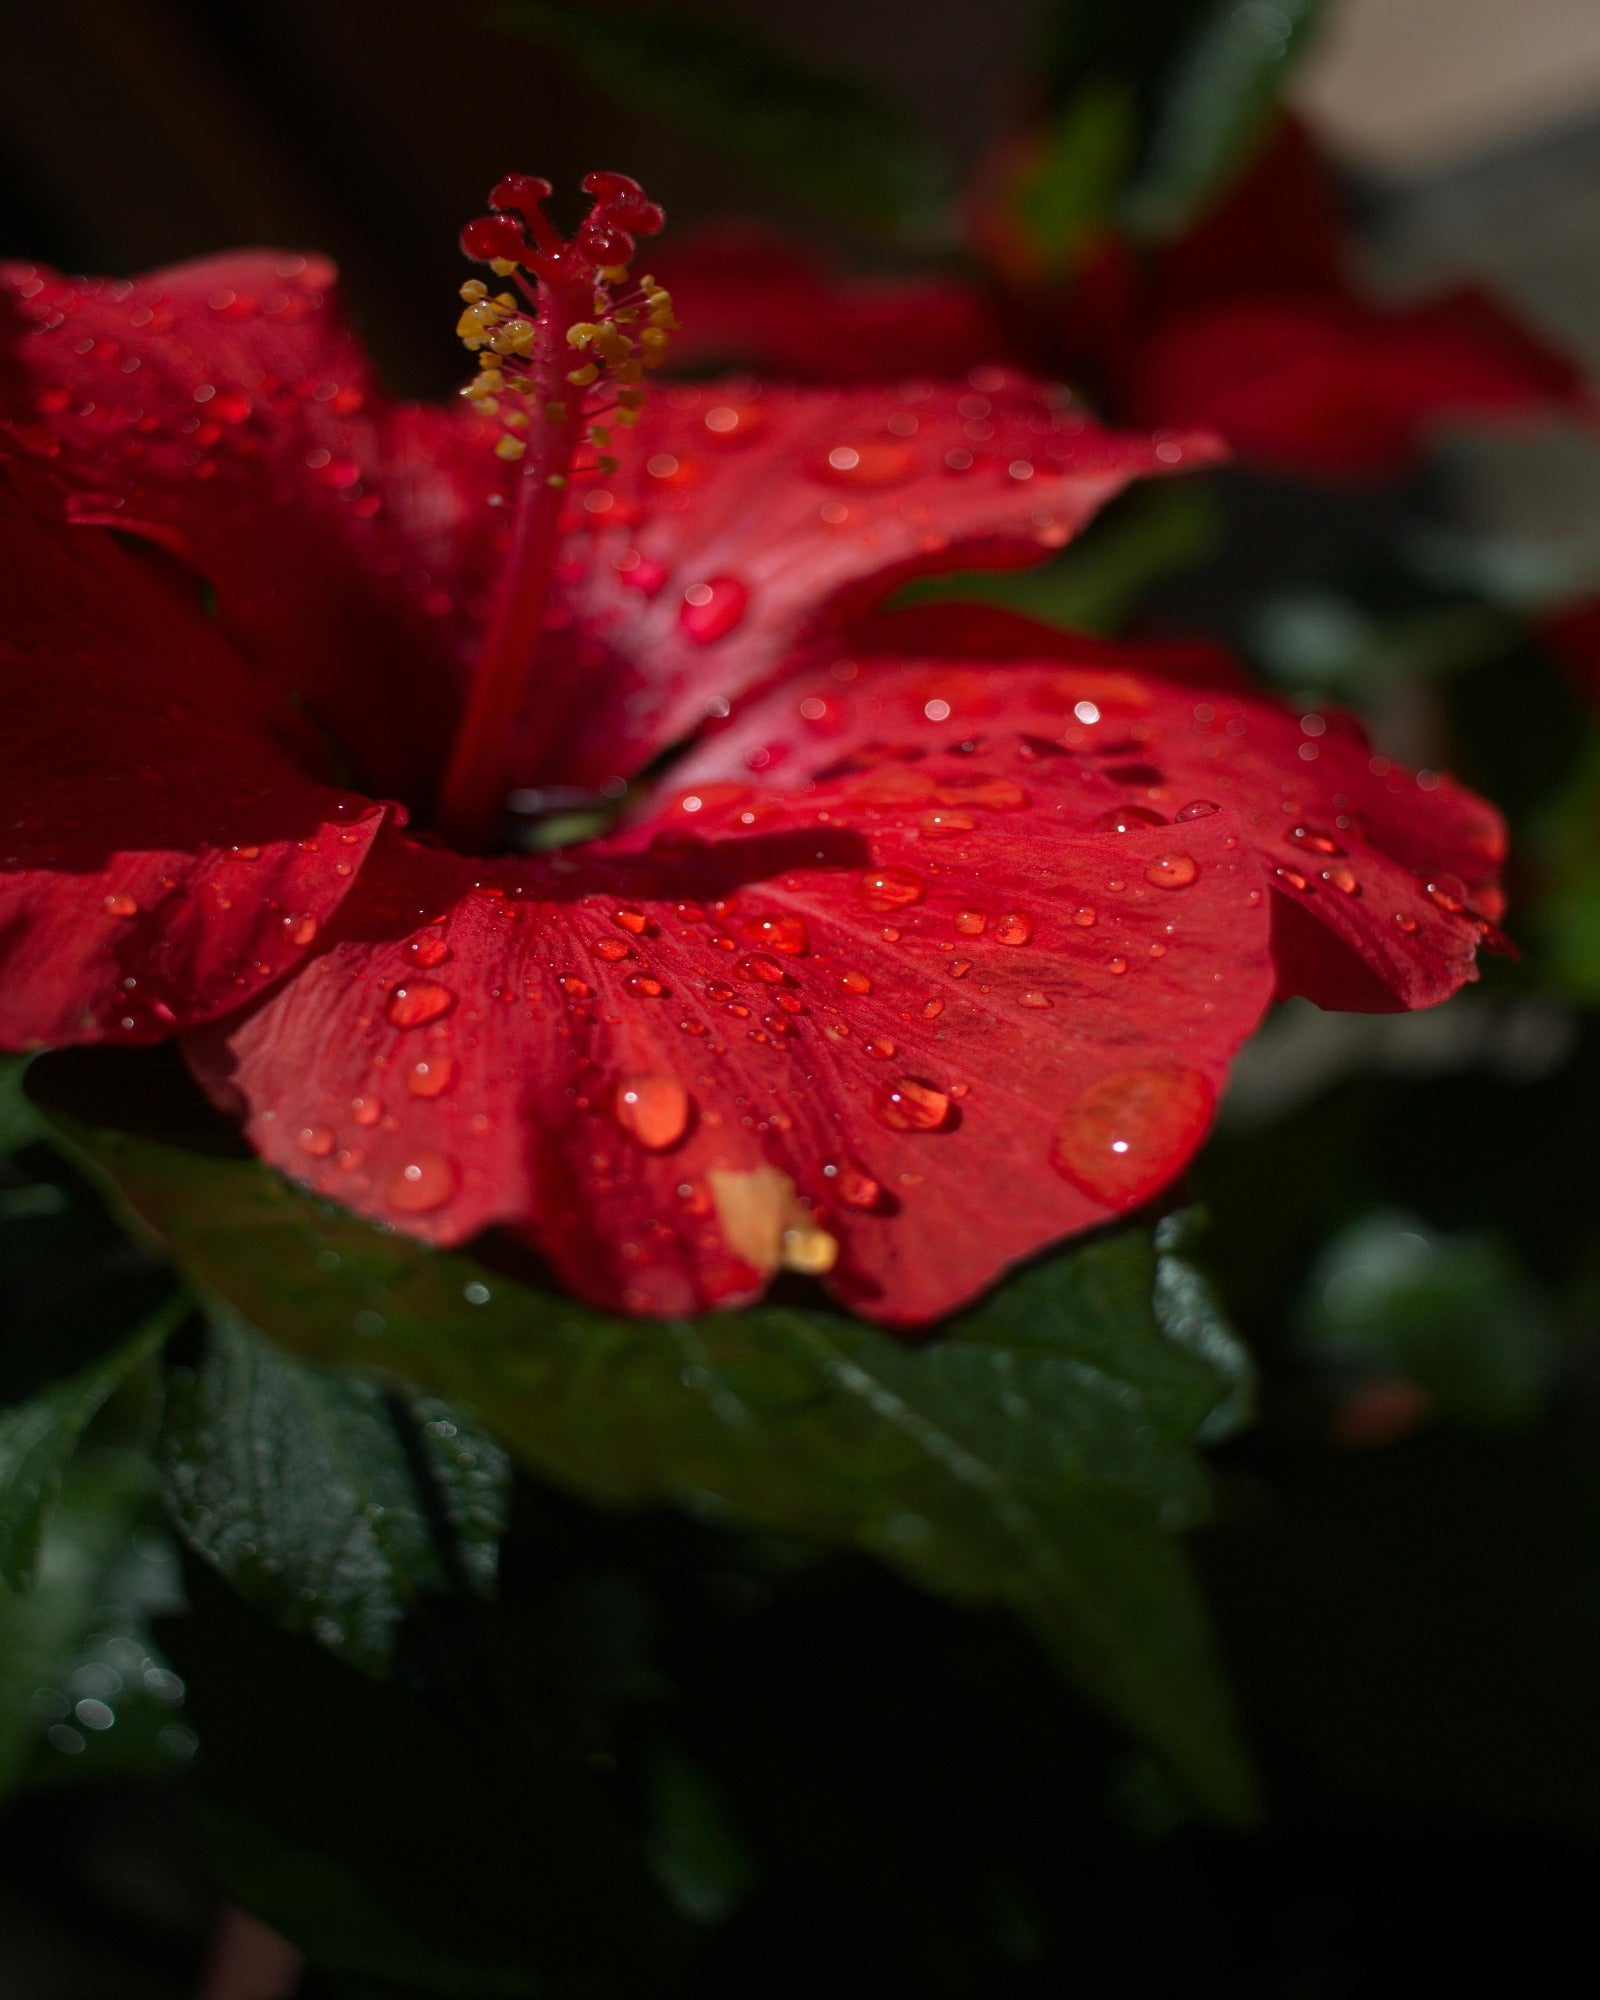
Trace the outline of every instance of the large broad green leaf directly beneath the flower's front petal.
{"type": "Polygon", "coordinates": [[[1204,1512],[1190,1440],[1236,1384],[1158,1318],[1146,1232],[1022,1272],[920,1348],[782,1306],[620,1320],[374,1230],[252,1160],[74,1118],[114,1102],[118,1062],[56,1056],[36,1102],[192,1282],[274,1340],[476,1410],[594,1502],[670,1500],[1008,1604],[1212,1812],[1252,1810],[1174,1540],[1204,1512]]]}

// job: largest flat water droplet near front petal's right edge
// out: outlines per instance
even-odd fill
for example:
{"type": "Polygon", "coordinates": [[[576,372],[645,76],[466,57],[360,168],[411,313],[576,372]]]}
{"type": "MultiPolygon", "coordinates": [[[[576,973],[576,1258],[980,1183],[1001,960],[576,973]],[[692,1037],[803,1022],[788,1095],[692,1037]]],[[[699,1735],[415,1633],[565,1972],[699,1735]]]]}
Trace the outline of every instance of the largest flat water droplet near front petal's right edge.
{"type": "Polygon", "coordinates": [[[1134,1208],[1184,1166],[1212,1106],[1212,1086],[1198,1070],[1116,1070],[1072,1106],[1050,1164],[1090,1200],[1134,1208]]]}

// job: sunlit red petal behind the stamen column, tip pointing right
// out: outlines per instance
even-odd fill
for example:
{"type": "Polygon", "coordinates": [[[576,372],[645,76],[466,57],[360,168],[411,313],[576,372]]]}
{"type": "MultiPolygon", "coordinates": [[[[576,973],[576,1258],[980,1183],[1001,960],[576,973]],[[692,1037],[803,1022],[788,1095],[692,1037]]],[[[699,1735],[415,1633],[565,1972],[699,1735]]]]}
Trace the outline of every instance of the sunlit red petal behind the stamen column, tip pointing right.
{"type": "Polygon", "coordinates": [[[796,640],[928,570],[1038,562],[1206,436],[1100,430],[1002,370],[982,388],[652,392],[602,484],[574,488],[564,606],[522,782],[630,776],[780,670],[796,640]]]}

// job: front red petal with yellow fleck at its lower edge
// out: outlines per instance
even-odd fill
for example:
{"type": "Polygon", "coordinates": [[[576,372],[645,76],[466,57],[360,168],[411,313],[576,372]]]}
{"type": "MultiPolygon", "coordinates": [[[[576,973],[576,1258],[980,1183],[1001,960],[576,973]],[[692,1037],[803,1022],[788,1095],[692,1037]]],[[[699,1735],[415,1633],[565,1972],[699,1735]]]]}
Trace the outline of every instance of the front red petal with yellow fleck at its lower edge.
{"type": "Polygon", "coordinates": [[[546,860],[384,836],[330,948],[190,1060],[284,1172],[436,1242],[512,1224],[588,1298],[688,1312],[790,1264],[936,1318],[1170,1180],[1272,990],[1232,814],[1184,830],[1180,894],[1164,828],[968,818],[928,838],[842,780],[546,860]],[[406,1028],[420,916],[456,1004],[406,1028]]]}

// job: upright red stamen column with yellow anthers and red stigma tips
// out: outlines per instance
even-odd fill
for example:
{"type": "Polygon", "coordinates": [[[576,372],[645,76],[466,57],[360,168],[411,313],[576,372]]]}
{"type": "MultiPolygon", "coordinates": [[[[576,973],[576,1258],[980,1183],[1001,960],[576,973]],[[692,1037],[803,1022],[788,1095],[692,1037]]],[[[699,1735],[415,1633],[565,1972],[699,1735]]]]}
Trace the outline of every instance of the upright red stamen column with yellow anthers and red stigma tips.
{"type": "Polygon", "coordinates": [[[548,180],[506,174],[490,194],[492,214],[462,230],[462,252],[514,286],[462,286],[456,332],[478,356],[478,378],[462,394],[500,420],[494,450],[518,466],[506,562],[438,798],[440,832],[472,850],[494,846],[502,830],[512,730],[544,628],[568,486],[616,470],[610,426],[638,422],[642,374],[676,326],[654,278],[624,290],[634,238],[654,236],[664,220],[640,184],[588,174],[592,208],[572,240],[544,214],[548,194],[548,180]]]}

